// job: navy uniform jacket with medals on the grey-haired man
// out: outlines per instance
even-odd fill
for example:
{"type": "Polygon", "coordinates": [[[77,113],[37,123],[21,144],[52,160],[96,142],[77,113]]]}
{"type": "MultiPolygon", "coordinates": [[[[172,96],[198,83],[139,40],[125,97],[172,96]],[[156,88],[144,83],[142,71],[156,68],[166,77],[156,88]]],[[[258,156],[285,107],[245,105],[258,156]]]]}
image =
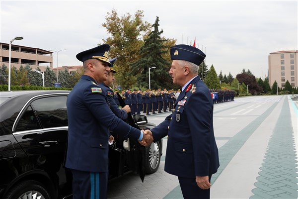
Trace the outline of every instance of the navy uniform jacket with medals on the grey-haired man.
{"type": "Polygon", "coordinates": [[[175,101],[173,113],[151,129],[154,141],[168,135],[164,170],[184,177],[209,176],[219,168],[213,101],[197,76],[175,101]]]}

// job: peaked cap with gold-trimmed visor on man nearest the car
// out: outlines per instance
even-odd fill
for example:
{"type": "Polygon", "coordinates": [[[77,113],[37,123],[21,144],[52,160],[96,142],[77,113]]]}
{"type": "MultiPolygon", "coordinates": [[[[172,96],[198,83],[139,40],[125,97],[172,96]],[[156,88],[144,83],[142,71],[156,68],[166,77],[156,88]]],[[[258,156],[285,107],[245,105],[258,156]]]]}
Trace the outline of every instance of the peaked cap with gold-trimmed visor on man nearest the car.
{"type": "Polygon", "coordinates": [[[109,50],[110,50],[109,44],[102,44],[95,48],[91,48],[89,50],[85,50],[83,52],[78,53],[76,55],[76,59],[78,59],[81,62],[84,62],[85,60],[88,60],[88,59],[98,59],[100,61],[108,63],[109,66],[111,66],[112,64],[109,62],[109,59],[108,59],[109,50]]]}

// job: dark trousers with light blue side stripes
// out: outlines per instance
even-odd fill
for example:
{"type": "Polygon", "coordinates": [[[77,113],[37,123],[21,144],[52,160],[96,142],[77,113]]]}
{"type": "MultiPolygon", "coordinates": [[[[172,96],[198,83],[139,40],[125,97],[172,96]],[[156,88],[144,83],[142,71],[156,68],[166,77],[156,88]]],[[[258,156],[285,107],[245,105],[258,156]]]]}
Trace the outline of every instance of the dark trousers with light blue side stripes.
{"type": "Polygon", "coordinates": [[[106,199],[109,172],[86,172],[71,170],[73,173],[73,199],[106,199]]]}

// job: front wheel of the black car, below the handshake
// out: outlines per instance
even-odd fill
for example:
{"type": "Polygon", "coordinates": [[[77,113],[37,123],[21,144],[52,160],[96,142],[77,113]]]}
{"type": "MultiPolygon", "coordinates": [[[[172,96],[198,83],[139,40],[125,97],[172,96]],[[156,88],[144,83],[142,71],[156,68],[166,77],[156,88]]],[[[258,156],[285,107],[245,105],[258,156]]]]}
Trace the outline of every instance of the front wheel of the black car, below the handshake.
{"type": "Polygon", "coordinates": [[[160,143],[152,142],[146,147],[145,171],[152,174],[157,171],[160,163],[160,143]]]}

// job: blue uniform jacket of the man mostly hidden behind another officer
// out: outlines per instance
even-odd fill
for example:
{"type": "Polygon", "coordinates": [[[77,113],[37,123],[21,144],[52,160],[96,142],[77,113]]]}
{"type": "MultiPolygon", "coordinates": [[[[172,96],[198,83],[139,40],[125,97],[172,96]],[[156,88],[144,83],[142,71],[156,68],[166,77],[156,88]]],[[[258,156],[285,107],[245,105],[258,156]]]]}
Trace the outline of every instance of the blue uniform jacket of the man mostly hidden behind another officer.
{"type": "Polygon", "coordinates": [[[122,110],[119,108],[119,106],[116,104],[114,99],[114,92],[113,90],[105,85],[103,82],[99,84],[99,86],[102,89],[102,93],[104,93],[110,103],[110,108],[112,112],[119,118],[125,120],[127,118],[127,112],[125,110],[122,110]]]}

